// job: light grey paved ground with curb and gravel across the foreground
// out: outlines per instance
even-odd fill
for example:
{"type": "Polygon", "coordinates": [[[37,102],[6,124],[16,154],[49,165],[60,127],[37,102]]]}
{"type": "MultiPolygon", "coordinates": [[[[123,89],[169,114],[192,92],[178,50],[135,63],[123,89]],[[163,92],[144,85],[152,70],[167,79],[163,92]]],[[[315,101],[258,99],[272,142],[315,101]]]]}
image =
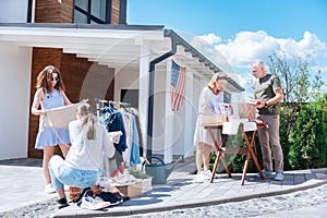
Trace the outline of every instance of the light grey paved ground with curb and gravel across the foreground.
{"type": "Polygon", "coordinates": [[[0,217],[252,217],[327,202],[327,187],[323,185],[327,183],[326,169],[288,171],[284,181],[261,180],[249,173],[244,185],[240,173],[232,174],[232,179],[219,174],[213,183],[199,182],[193,169],[194,158],[185,160],[177,166],[167,184],[154,185],[152,192],[119,206],[92,211],[71,204],[59,210],[57,195],[44,193],[40,161],[2,160],[0,193],[7,201],[0,205],[0,217]],[[294,191],[300,192],[289,194],[294,191]]]}

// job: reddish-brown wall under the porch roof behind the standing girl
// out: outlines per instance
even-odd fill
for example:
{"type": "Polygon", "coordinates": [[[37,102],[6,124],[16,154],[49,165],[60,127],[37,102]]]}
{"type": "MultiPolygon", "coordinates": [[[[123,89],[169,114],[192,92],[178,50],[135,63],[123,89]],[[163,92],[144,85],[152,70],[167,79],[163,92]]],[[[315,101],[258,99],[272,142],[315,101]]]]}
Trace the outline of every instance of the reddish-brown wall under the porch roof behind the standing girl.
{"type": "MultiPolygon", "coordinates": [[[[106,71],[106,77],[113,77],[112,70],[107,66],[98,65],[97,63],[87,61],[84,58],[76,58],[75,55],[62,53],[62,49],[53,48],[34,48],[32,61],[32,84],[31,84],[31,107],[35,94],[35,84],[38,73],[49,64],[56,65],[61,73],[62,80],[65,85],[65,94],[72,102],[77,102],[81,96],[81,88],[83,86],[85,76],[90,66],[106,71]]],[[[105,80],[105,78],[104,78],[105,80]]],[[[106,99],[113,99],[113,85],[111,82],[107,89],[106,99]]],[[[90,101],[93,99],[89,99],[90,101]]],[[[35,149],[35,140],[38,131],[39,117],[29,113],[29,133],[28,133],[28,157],[41,158],[43,150],[35,149]]],[[[61,154],[57,147],[57,154],[61,154]]]]}

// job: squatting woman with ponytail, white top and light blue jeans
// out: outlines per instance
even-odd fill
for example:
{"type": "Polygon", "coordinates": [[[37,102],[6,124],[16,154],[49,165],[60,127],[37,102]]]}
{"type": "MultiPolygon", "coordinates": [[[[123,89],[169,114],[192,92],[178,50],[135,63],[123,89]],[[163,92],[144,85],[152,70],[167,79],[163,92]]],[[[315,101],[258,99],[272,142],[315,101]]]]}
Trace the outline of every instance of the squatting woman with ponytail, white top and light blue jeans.
{"type": "Polygon", "coordinates": [[[77,120],[69,124],[72,146],[66,158],[63,160],[55,155],[49,161],[51,180],[59,195],[59,208],[68,206],[64,184],[80,189],[94,185],[98,180],[102,156],[110,158],[114,154],[114,136],[109,137],[104,124],[96,121],[88,104],[78,105],[76,117],[77,120]]]}

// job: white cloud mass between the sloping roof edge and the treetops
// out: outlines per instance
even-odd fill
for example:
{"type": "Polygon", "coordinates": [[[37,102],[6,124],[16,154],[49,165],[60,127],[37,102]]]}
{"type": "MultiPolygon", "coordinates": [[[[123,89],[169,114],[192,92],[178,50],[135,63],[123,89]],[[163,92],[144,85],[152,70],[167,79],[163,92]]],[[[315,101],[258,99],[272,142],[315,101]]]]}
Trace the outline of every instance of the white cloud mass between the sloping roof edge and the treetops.
{"type": "Polygon", "coordinates": [[[322,71],[323,81],[327,78],[327,46],[315,34],[305,32],[303,38],[275,38],[264,31],[240,32],[234,38],[227,40],[214,34],[196,36],[191,40],[192,46],[213,60],[229,75],[239,75],[237,80],[243,87],[249,88],[253,76],[250,65],[253,60],[268,62],[268,57],[276,52],[286,55],[287,59],[305,58],[314,72],[322,71]]]}

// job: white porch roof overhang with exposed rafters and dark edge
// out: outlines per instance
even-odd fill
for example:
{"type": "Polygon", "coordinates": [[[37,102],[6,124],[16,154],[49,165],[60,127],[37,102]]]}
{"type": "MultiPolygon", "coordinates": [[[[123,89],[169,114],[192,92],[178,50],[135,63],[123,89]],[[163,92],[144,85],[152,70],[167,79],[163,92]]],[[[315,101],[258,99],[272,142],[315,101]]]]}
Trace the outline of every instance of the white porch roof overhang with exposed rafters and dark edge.
{"type": "MultiPolygon", "coordinates": [[[[199,72],[204,77],[220,71],[205,56],[171,29],[161,25],[98,25],[98,24],[0,24],[0,40],[21,47],[60,48],[64,53],[75,53],[108,68],[140,69],[142,47],[150,46],[156,58],[171,47],[177,39],[174,56],[199,72]]],[[[244,89],[229,77],[229,89],[244,89]]]]}

